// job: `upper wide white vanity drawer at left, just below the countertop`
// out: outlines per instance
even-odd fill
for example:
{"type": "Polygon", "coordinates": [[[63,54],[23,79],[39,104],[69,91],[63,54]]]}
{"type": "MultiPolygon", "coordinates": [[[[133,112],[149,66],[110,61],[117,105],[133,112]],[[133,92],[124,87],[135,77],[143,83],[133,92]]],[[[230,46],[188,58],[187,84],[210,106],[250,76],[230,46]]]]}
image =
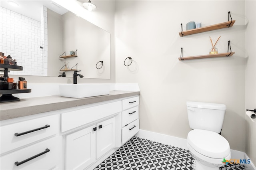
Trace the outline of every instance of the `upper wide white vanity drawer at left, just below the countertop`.
{"type": "Polygon", "coordinates": [[[0,127],[1,154],[57,134],[59,117],[52,115],[0,127]]]}

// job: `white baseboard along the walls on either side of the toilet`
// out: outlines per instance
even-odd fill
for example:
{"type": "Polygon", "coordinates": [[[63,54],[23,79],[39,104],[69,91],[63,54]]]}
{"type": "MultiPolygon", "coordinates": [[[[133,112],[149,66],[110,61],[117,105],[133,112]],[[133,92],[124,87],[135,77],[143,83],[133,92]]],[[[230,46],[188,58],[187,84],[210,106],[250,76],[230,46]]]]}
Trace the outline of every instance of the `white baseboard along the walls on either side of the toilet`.
{"type": "MultiPolygon", "coordinates": [[[[135,136],[188,150],[187,139],[184,139],[184,138],[178,138],[175,136],[169,136],[166,134],[150,132],[150,131],[142,130],[142,129],[140,129],[139,132],[135,136]]],[[[250,158],[244,152],[231,149],[231,158],[230,159],[246,159],[246,160],[248,160],[250,158]]],[[[246,170],[256,170],[256,168],[252,162],[250,164],[244,164],[244,166],[246,166],[246,170]]]]}

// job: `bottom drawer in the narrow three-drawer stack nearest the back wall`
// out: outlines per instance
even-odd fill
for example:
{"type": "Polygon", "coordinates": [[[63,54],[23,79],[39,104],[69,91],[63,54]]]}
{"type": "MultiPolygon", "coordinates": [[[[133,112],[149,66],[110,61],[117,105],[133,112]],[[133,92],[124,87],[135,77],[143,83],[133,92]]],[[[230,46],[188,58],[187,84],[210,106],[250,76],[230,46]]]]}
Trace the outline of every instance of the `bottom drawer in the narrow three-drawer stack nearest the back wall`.
{"type": "Polygon", "coordinates": [[[122,128],[122,144],[128,141],[139,131],[139,119],[122,128]]]}

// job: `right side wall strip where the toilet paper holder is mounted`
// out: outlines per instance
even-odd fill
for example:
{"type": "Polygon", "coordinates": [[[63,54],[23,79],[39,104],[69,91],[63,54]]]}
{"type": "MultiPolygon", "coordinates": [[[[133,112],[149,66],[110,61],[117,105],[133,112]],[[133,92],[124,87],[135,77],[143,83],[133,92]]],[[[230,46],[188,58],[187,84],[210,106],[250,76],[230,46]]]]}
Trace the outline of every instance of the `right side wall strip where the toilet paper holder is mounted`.
{"type": "MultiPolygon", "coordinates": [[[[245,109],[256,108],[256,1],[246,1],[246,88],[245,109]]],[[[246,122],[246,154],[256,164],[255,130],[246,122]]],[[[252,127],[252,126],[251,126],[252,127]]],[[[255,127],[255,126],[254,126],[255,127]]]]}

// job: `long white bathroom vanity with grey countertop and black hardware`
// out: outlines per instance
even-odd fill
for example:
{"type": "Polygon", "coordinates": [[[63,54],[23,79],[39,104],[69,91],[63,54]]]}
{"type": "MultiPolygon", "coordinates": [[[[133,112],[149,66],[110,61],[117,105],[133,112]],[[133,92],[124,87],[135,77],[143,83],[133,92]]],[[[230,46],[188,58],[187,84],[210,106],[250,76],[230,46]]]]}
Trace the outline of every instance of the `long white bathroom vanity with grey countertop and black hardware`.
{"type": "Polygon", "coordinates": [[[93,169],[139,130],[139,91],[1,104],[1,169],[93,169]]]}

